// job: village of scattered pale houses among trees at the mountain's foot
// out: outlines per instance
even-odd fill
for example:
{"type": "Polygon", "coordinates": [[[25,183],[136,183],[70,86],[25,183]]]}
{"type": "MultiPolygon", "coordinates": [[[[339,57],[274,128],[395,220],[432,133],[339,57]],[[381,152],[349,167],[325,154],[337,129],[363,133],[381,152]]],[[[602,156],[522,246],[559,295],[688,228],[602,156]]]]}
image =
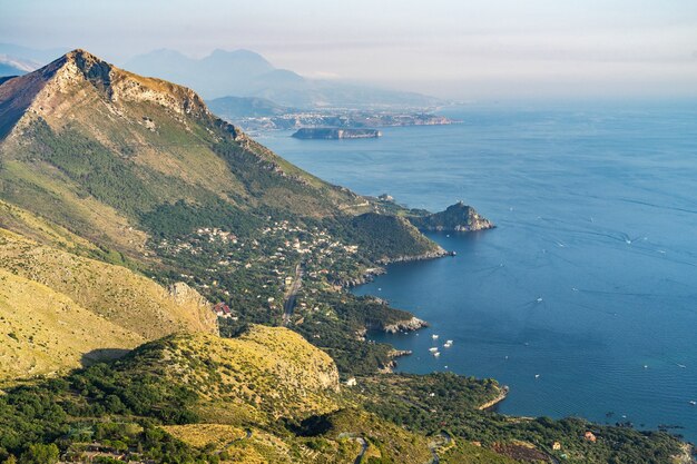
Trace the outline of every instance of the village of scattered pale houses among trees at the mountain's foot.
{"type": "Polygon", "coordinates": [[[303,266],[302,297],[296,302],[301,319],[305,312],[331,309],[313,295],[342,287],[342,282],[364,273],[355,255],[357,245],[346,245],[320,227],[304,228],[288,220],[272,221],[242,238],[218,227],[200,227],[190,235],[161,239],[153,246],[160,256],[203,266],[196,275],[176,277],[209,296],[218,317],[232,322],[281,323],[284,295],[303,266]],[[205,263],[205,265],[203,265],[205,263]],[[206,276],[206,279],[200,278],[206,276]],[[261,319],[261,320],[259,320],[261,319]]]}

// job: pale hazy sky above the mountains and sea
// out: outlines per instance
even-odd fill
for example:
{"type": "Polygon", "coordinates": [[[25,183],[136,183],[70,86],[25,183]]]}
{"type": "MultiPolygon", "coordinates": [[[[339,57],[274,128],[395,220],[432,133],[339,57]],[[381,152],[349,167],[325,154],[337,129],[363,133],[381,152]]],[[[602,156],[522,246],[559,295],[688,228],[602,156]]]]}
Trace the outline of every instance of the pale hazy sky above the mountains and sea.
{"type": "Polygon", "coordinates": [[[0,0],[0,42],[116,63],[246,48],[459,99],[697,96],[697,0],[0,0]]]}

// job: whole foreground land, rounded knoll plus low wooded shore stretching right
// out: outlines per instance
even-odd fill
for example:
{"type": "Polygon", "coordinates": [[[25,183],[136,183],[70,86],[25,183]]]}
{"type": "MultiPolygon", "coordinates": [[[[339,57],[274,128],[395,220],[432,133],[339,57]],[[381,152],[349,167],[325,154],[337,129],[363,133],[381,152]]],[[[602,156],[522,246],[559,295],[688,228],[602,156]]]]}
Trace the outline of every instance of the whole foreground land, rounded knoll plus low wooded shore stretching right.
{"type": "MultiPolygon", "coordinates": [[[[507,454],[562,458],[562,453],[570,463],[662,463],[679,451],[666,434],[473,409],[489,396],[489,386],[454,375],[424,382],[377,376],[338,391],[334,363],[288,329],[252,326],[235,339],[173,335],[110,365],[7,391],[0,396],[0,450],[17,453],[28,443],[62,437],[63,448],[79,454],[80,443],[97,440],[108,447],[108,438],[127,440],[131,450],[169,443],[189,456],[180,462],[218,456],[331,463],[354,462],[365,443],[364,462],[405,464],[426,463],[434,451],[451,463],[514,462],[507,454]],[[451,389],[453,383],[460,385],[451,389]],[[434,396],[426,394],[431,389],[434,396]],[[372,412],[363,408],[367,405],[372,412]],[[403,413],[406,421],[400,421],[403,413]],[[141,426],[124,426],[129,423],[141,426]],[[126,432],[153,426],[178,441],[155,440],[151,431],[126,432]],[[111,432],[100,432],[105,427],[111,432]],[[589,428],[598,443],[583,440],[589,428]],[[551,452],[554,441],[561,452],[551,452]]],[[[169,462],[165,456],[149,458],[169,462]]]]}

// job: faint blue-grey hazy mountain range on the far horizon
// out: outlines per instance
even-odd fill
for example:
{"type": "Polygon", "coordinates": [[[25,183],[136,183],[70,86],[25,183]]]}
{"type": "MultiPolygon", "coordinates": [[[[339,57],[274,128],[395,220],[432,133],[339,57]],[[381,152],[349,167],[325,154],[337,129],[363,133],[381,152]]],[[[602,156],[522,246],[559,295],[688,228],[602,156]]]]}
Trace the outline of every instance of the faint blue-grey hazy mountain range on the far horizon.
{"type": "Polygon", "coordinates": [[[249,50],[215,50],[202,59],[174,50],[156,50],[124,65],[130,71],[158,76],[193,88],[206,99],[256,97],[297,108],[429,107],[433,97],[330,80],[307,79],[275,68],[249,50]]]}

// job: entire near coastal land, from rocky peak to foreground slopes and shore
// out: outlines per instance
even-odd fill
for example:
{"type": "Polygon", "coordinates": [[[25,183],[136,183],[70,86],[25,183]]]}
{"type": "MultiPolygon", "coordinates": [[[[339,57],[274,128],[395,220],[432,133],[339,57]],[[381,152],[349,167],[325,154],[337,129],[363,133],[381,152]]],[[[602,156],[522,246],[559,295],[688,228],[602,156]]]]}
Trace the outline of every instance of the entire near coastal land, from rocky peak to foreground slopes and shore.
{"type": "Polygon", "coordinates": [[[415,226],[475,225],[326,184],[84,50],[2,81],[0,463],[687,462],[481,411],[492,379],[385,373],[366,330],[421,322],[345,287],[442,256],[415,226]]]}

